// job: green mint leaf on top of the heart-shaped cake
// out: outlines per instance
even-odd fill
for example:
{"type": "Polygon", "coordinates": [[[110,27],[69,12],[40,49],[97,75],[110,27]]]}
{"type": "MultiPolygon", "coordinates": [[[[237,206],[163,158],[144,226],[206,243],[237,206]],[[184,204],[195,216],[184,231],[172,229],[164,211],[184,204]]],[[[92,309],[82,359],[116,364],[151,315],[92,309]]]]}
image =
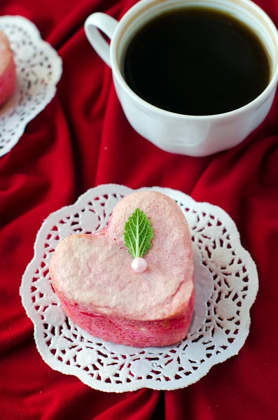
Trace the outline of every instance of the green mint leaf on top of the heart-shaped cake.
{"type": "Polygon", "coordinates": [[[151,248],[153,228],[144,211],[136,209],[125,223],[125,246],[133,258],[143,257],[151,248]]]}

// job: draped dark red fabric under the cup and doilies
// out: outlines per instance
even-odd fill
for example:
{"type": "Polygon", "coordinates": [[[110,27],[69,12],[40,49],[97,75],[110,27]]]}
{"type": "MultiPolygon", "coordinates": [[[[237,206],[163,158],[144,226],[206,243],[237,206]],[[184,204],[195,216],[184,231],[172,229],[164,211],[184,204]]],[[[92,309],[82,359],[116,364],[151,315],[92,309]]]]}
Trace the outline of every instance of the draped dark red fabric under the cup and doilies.
{"type": "MultiPolygon", "coordinates": [[[[278,419],[278,109],[243,144],[208,158],[160,151],[125,120],[111,70],[92,50],[83,23],[114,18],[134,0],[2,0],[1,15],[32,20],[61,55],[53,101],[0,158],[0,419],[278,419]],[[167,186],[223,207],[258,266],[260,290],[239,353],[179,391],[94,391],[51,370],[22,307],[21,276],[50,212],[102,183],[167,186]]],[[[258,0],[278,24],[277,0],[258,0]]],[[[225,141],[225,139],[223,139],[225,141]]]]}

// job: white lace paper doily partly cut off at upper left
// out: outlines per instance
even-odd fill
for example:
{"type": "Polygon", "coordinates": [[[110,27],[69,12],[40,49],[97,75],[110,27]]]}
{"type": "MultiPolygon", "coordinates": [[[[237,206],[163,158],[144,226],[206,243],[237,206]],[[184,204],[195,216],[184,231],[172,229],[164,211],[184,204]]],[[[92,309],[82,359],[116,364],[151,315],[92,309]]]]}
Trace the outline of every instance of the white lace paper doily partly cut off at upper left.
{"type": "Polygon", "coordinates": [[[34,23],[22,16],[1,16],[14,52],[17,87],[0,108],[0,156],[18,143],[25,127],[53,99],[62,74],[62,59],[41,39],[34,23]]]}

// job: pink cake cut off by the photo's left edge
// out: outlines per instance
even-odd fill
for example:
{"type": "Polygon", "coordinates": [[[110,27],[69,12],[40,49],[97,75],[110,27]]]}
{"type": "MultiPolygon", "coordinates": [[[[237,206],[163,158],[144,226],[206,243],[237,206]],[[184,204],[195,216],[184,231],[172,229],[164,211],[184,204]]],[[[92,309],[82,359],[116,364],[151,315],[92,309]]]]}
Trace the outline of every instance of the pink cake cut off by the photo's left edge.
{"type": "Polygon", "coordinates": [[[0,31],[0,106],[15,92],[16,69],[8,38],[0,31]]]}

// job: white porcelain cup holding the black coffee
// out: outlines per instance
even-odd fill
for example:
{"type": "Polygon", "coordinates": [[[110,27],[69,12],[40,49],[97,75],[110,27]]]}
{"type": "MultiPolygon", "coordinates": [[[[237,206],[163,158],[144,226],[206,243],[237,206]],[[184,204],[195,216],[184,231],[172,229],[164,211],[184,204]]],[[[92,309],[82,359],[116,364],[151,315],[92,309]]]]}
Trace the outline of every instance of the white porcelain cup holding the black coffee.
{"type": "Polygon", "coordinates": [[[134,130],[165,151],[205,156],[236,146],[263,122],[270,111],[278,80],[278,35],[272,20],[249,0],[141,0],[118,22],[104,13],[93,13],[85,34],[104,62],[111,66],[113,81],[127,120],[134,130]],[[270,59],[270,83],[242,108],[211,116],[187,116],[159,109],[134,93],[125,82],[121,66],[130,39],[146,22],[175,8],[204,6],[226,13],[258,34],[270,59]],[[111,38],[111,45],[99,30],[111,38]]]}

